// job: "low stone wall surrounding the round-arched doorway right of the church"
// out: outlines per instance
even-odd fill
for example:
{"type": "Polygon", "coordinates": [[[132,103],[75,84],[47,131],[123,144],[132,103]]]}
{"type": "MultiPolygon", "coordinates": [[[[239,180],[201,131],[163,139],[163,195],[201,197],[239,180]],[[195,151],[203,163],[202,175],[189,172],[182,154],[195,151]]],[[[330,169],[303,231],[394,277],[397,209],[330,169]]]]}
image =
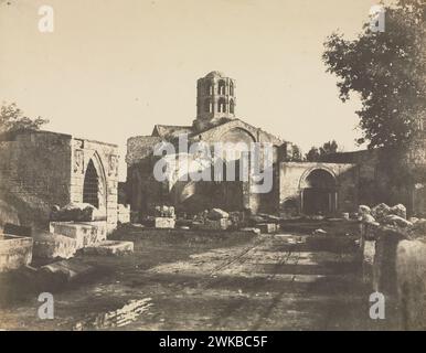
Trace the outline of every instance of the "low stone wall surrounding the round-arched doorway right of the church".
{"type": "Polygon", "coordinates": [[[279,163],[279,204],[294,203],[301,211],[302,180],[310,171],[321,169],[336,179],[338,212],[353,212],[358,205],[358,170],[354,164],[337,163],[279,163]]]}

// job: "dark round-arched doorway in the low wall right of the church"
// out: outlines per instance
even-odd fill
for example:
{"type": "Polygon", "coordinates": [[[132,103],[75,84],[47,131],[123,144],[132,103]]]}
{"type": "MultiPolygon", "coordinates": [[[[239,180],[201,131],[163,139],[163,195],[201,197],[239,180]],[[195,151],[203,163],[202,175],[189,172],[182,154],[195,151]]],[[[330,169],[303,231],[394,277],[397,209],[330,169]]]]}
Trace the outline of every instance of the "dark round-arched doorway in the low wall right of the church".
{"type": "Polygon", "coordinates": [[[338,193],[334,175],[324,169],[315,169],[301,180],[301,211],[308,215],[336,213],[338,193]]]}

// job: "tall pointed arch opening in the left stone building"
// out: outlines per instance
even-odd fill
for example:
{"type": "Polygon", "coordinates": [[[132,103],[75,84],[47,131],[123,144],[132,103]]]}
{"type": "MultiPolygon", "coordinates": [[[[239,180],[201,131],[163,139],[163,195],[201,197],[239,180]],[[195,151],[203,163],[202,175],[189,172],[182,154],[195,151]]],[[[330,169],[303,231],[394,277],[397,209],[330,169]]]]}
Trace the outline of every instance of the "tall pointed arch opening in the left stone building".
{"type": "Polygon", "coordinates": [[[83,182],[83,202],[94,205],[102,214],[106,215],[106,174],[99,154],[94,152],[86,165],[83,182]]]}

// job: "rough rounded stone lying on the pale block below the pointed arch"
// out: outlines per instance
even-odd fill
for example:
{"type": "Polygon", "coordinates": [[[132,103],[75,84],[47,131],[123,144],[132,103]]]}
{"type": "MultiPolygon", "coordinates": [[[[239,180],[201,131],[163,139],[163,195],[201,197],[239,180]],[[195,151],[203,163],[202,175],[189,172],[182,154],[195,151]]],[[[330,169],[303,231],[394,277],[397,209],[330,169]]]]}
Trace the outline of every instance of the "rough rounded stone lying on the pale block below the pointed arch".
{"type": "Polygon", "coordinates": [[[102,215],[99,211],[89,203],[68,203],[62,208],[54,206],[51,214],[52,221],[57,222],[92,222],[104,221],[105,215],[102,215]]]}

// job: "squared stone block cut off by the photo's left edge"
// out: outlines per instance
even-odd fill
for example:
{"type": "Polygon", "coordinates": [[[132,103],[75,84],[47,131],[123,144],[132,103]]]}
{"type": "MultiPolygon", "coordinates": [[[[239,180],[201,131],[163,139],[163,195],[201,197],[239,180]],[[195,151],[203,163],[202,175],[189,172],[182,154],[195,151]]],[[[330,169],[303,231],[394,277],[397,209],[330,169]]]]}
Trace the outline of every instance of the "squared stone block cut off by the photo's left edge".
{"type": "Polygon", "coordinates": [[[0,272],[18,269],[32,260],[33,239],[14,235],[0,237],[0,272]]]}

